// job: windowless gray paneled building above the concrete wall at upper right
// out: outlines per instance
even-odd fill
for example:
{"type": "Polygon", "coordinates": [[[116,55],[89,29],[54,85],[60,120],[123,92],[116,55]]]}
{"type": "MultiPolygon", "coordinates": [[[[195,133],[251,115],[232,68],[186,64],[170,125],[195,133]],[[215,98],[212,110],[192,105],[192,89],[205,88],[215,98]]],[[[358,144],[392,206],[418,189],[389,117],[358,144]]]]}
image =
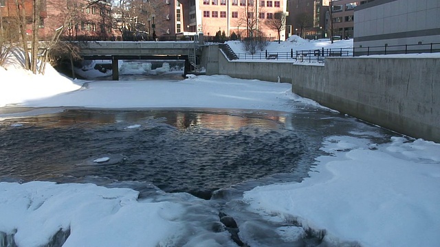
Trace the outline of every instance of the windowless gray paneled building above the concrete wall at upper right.
{"type": "Polygon", "coordinates": [[[355,8],[355,48],[431,43],[440,49],[440,0],[375,0],[355,8]]]}

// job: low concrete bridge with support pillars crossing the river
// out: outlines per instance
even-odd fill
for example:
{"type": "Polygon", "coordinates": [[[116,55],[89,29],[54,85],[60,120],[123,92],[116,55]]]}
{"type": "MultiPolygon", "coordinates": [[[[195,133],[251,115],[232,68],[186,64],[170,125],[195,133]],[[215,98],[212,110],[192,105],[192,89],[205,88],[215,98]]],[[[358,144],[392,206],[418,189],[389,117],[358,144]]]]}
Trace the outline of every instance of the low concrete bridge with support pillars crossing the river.
{"type": "Polygon", "coordinates": [[[185,60],[185,74],[199,67],[203,39],[194,41],[97,41],[78,43],[85,60],[111,60],[113,80],[119,80],[118,60],[185,60]]]}

